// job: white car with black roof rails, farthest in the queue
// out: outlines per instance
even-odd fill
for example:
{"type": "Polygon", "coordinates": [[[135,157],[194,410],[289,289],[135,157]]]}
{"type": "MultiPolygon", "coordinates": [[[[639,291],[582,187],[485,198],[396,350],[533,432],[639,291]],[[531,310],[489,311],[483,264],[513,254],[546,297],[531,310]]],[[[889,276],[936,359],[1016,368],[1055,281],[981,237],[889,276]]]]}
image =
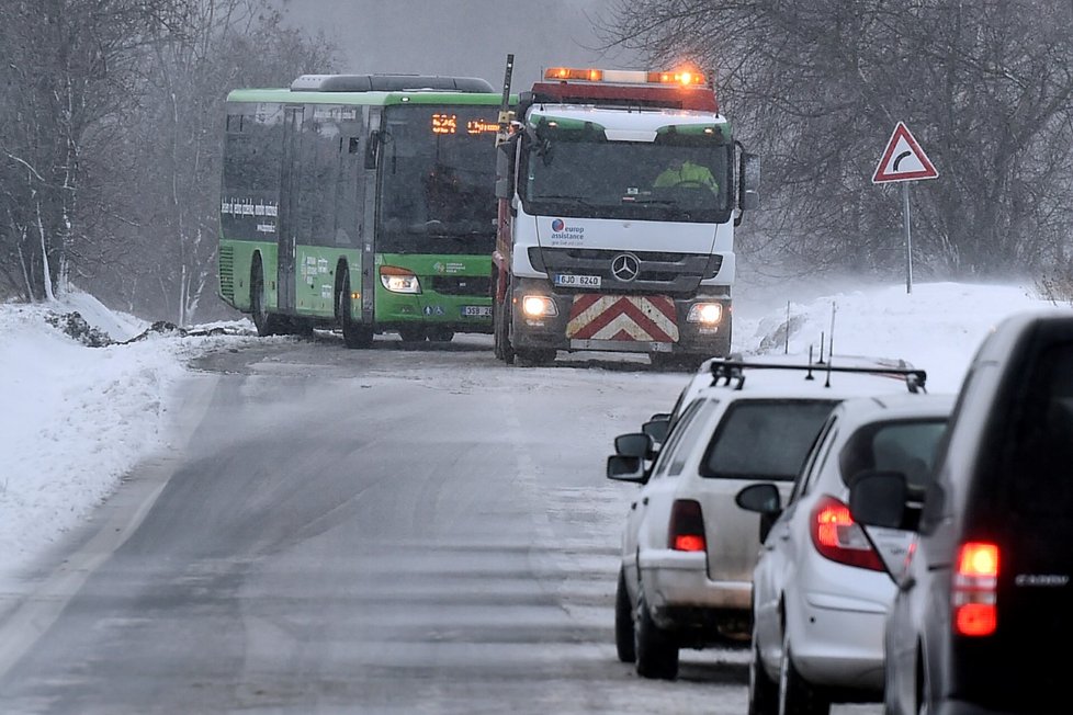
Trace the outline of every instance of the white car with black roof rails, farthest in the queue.
{"type": "Polygon", "coordinates": [[[738,490],[772,480],[788,495],[832,408],[923,391],[926,378],[889,363],[711,370],[716,384],[694,390],[658,455],[636,433],[608,458],[609,478],[642,485],[626,512],[614,632],[619,658],[646,678],[677,677],[680,648],[748,643],[759,520],[737,508],[738,490]]]}

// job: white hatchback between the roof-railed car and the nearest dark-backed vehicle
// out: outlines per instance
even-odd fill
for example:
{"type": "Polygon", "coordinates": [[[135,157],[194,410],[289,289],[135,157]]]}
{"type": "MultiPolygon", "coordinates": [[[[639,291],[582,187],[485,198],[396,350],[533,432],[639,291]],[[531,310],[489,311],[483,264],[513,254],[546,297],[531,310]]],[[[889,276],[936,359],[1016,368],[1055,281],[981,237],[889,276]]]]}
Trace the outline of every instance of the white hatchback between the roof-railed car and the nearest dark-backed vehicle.
{"type": "Polygon", "coordinates": [[[863,475],[906,475],[920,498],[955,397],[888,395],[832,411],[786,507],[782,484],[743,489],[737,502],[761,514],[753,572],[749,714],[825,715],[832,703],[883,694],[883,625],[912,535],[850,517],[849,486],[863,475]]]}

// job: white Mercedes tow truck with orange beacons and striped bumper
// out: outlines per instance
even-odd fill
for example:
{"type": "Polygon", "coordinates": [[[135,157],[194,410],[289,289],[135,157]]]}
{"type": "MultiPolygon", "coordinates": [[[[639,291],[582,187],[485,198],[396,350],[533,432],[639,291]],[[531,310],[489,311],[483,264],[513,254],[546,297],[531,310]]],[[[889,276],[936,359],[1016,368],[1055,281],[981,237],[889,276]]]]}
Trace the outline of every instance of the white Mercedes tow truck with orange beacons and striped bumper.
{"type": "Polygon", "coordinates": [[[759,157],[704,75],[556,67],[518,97],[497,152],[496,356],[728,355],[734,229],[759,205],[759,157]]]}

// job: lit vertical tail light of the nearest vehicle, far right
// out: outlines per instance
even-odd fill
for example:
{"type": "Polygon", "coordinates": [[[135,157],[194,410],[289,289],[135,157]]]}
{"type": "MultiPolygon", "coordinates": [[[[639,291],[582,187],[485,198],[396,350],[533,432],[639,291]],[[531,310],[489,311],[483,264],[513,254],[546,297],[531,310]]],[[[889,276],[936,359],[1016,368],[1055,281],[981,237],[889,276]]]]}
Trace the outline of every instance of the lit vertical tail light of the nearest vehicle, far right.
{"type": "Polygon", "coordinates": [[[958,551],[950,601],[953,629],[962,636],[990,636],[998,625],[998,546],[968,542],[958,551]]]}

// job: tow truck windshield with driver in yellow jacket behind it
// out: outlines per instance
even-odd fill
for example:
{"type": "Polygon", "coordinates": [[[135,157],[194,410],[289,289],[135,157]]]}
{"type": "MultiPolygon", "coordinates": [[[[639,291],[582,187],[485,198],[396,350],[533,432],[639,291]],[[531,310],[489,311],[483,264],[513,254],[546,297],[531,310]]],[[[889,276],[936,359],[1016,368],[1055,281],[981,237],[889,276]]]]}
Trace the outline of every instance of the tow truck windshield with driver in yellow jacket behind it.
{"type": "Polygon", "coordinates": [[[731,146],[697,137],[609,141],[543,132],[527,141],[526,211],[534,215],[722,223],[731,146]]]}

